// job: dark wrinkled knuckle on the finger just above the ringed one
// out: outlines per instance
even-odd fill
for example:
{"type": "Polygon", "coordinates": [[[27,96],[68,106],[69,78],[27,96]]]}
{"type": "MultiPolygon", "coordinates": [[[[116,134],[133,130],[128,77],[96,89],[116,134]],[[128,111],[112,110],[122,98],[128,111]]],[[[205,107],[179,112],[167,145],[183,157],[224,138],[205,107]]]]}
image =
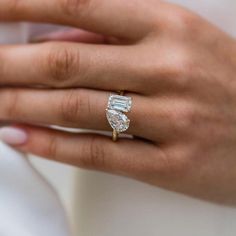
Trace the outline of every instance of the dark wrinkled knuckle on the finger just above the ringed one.
{"type": "Polygon", "coordinates": [[[79,71],[79,53],[72,48],[53,45],[49,48],[44,67],[54,86],[66,86],[79,71]]]}

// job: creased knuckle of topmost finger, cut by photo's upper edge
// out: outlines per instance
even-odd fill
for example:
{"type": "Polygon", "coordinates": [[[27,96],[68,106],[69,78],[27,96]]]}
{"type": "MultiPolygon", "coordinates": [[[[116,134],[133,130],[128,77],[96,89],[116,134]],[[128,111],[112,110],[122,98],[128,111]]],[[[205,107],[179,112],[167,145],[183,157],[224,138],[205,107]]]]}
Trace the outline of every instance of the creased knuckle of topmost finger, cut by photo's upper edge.
{"type": "Polygon", "coordinates": [[[65,15],[76,16],[90,5],[91,0],[60,0],[61,10],[65,15]]]}

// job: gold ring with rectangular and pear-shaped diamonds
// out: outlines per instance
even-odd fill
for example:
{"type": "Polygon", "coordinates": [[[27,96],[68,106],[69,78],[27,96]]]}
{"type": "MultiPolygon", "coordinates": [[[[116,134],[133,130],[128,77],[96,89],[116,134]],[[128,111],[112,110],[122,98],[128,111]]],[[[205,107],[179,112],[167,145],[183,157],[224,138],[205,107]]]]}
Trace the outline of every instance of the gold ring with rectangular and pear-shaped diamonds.
{"type": "Polygon", "coordinates": [[[124,114],[131,110],[132,98],[124,96],[124,92],[109,97],[106,109],[107,120],[113,129],[112,140],[115,142],[120,133],[125,132],[130,125],[129,118],[124,114]]]}

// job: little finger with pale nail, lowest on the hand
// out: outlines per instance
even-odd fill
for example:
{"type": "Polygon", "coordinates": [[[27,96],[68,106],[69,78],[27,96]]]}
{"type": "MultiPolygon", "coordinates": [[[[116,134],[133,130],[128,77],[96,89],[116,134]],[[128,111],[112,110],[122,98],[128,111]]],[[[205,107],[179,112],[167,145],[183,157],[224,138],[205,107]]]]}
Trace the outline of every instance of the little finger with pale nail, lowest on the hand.
{"type": "Polygon", "coordinates": [[[71,134],[30,126],[19,126],[17,130],[3,128],[0,138],[23,152],[112,173],[135,175],[140,171],[150,171],[154,163],[160,168],[164,164],[160,150],[151,143],[139,140],[119,139],[112,142],[102,135],[71,134]]]}

